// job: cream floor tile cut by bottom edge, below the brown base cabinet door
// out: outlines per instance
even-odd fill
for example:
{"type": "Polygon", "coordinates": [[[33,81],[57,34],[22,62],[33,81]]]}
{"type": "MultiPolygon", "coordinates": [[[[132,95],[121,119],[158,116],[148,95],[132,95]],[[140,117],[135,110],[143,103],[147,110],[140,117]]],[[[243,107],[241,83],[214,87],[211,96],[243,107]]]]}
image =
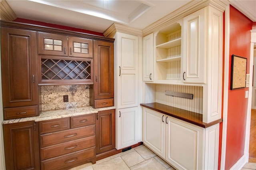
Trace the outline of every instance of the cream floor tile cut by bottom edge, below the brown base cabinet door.
{"type": "Polygon", "coordinates": [[[122,158],[116,157],[111,160],[104,161],[100,164],[92,165],[94,170],[129,170],[122,158]]]}

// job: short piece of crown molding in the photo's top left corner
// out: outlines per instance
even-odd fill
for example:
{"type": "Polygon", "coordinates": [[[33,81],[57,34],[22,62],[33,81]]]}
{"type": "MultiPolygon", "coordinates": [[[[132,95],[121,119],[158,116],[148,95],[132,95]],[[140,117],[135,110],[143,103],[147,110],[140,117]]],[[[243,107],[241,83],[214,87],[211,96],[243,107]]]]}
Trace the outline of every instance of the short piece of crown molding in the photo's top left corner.
{"type": "Polygon", "coordinates": [[[17,18],[12,8],[6,2],[6,0],[0,1],[0,19],[6,21],[13,21],[17,18]]]}

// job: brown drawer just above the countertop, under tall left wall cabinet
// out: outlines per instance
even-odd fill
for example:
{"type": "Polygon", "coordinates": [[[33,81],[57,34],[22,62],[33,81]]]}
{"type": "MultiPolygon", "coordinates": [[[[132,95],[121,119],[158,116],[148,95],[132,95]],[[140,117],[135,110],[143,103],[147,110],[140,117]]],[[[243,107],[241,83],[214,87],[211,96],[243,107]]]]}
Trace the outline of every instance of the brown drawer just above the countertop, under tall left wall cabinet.
{"type": "Polygon", "coordinates": [[[4,120],[39,116],[38,105],[12,107],[12,108],[5,108],[3,110],[4,110],[4,120]]]}

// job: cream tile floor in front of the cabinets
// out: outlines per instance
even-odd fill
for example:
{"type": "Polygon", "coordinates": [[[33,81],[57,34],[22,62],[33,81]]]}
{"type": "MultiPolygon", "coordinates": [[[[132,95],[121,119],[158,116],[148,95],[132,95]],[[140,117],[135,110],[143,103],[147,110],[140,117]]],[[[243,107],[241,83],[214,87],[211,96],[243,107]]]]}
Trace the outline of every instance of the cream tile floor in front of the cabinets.
{"type": "MultiPolygon", "coordinates": [[[[77,166],[70,170],[175,170],[146,146],[140,145],[126,152],[77,166]]],[[[256,163],[247,163],[242,170],[256,170],[256,163]]]]}

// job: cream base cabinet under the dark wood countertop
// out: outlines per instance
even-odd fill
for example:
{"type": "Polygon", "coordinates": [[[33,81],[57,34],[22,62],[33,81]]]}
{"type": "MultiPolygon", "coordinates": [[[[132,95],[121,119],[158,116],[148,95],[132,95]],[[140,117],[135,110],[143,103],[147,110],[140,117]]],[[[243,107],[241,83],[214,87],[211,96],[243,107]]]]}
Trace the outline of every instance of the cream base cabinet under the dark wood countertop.
{"type": "Polygon", "coordinates": [[[143,142],[176,169],[218,169],[219,124],[202,128],[144,107],[143,142]]]}

